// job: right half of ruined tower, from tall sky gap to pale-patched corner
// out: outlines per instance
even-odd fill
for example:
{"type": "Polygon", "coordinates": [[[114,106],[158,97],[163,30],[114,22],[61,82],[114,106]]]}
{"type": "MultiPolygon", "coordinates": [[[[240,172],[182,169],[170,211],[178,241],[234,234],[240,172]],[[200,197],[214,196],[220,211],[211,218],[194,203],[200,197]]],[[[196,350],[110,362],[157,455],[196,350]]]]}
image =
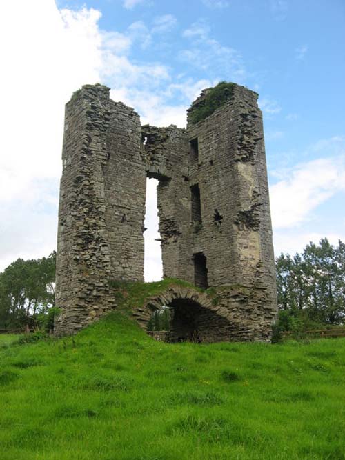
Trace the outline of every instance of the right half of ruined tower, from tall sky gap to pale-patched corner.
{"type": "Polygon", "coordinates": [[[164,276],[219,290],[219,308],[231,312],[233,326],[213,325],[215,318],[203,310],[200,330],[208,324],[219,330],[219,339],[226,334],[269,339],[277,301],[257,94],[235,85],[224,106],[197,124],[188,123],[186,132],[145,126],[143,133],[146,160],[161,179],[157,201],[164,276]],[[202,263],[194,264],[203,257],[206,272],[202,263]]]}

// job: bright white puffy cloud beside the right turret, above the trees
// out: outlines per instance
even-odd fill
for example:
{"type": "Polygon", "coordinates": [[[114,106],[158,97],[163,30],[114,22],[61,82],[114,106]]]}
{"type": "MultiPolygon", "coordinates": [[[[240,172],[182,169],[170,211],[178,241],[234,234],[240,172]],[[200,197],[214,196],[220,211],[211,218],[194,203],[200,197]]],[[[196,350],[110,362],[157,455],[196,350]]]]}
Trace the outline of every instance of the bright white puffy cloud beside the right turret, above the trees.
{"type": "Polygon", "coordinates": [[[338,192],[345,191],[345,150],[338,157],[302,163],[286,171],[270,187],[273,228],[290,228],[311,218],[311,212],[338,192]]]}

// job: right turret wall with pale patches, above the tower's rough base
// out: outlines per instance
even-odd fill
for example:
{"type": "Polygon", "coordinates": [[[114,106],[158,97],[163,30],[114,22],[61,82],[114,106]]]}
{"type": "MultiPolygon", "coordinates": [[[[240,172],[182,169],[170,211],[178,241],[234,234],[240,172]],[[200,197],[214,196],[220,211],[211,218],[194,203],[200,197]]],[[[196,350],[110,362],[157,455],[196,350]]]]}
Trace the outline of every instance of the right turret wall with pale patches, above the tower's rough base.
{"type": "MultiPolygon", "coordinates": [[[[197,100],[200,103],[205,93],[197,100]]],[[[194,106],[190,108],[192,111],[194,106]]],[[[275,265],[262,112],[257,94],[235,86],[233,97],[204,121],[188,123],[198,159],[190,182],[201,195],[201,226],[193,252],[203,252],[210,286],[265,288],[275,309],[275,265]]]]}

